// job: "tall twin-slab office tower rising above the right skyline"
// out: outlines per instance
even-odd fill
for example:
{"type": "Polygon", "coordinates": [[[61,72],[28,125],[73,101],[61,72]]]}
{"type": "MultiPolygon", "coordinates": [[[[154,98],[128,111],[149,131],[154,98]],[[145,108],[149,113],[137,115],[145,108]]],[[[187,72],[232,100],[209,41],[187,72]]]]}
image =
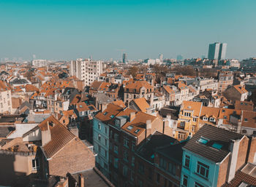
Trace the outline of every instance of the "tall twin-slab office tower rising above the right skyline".
{"type": "Polygon", "coordinates": [[[225,59],[227,51],[227,44],[215,42],[209,44],[208,59],[210,60],[222,60],[225,59]]]}

